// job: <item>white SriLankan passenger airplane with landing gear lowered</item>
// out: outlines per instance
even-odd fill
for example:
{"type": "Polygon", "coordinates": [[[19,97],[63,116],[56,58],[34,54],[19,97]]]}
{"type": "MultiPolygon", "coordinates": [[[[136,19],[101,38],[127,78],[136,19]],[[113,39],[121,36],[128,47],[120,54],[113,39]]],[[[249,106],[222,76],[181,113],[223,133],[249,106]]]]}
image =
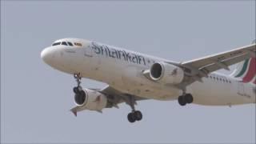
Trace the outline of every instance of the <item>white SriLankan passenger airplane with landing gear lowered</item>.
{"type": "Polygon", "coordinates": [[[129,122],[142,120],[135,109],[138,101],[178,100],[179,105],[190,103],[203,106],[233,106],[255,103],[256,95],[255,42],[248,46],[213,54],[187,62],[173,62],[109,46],[82,38],[62,38],[41,52],[46,64],[56,70],[73,74],[75,107],[70,111],[118,108],[125,102],[131,112],[129,122]],[[216,70],[230,70],[230,75],[216,70]],[[82,88],[82,78],[107,84],[102,89],[82,88]]]}

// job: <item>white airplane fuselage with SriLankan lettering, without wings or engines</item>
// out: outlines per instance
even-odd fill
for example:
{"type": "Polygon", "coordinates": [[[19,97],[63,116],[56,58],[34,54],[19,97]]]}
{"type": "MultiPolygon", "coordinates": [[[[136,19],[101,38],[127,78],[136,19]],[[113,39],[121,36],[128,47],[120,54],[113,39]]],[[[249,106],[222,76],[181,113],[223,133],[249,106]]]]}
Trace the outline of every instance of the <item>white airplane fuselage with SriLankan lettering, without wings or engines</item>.
{"type": "MultiPolygon", "coordinates": [[[[182,94],[178,87],[151,81],[142,74],[154,62],[170,62],[166,59],[89,41],[83,42],[82,47],[50,46],[42,53],[51,53],[48,64],[57,70],[80,73],[84,78],[105,82],[126,94],[158,100],[177,99],[182,94]]],[[[250,83],[217,73],[186,88],[193,94],[194,103],[210,106],[254,103],[254,89],[250,83]]]]}

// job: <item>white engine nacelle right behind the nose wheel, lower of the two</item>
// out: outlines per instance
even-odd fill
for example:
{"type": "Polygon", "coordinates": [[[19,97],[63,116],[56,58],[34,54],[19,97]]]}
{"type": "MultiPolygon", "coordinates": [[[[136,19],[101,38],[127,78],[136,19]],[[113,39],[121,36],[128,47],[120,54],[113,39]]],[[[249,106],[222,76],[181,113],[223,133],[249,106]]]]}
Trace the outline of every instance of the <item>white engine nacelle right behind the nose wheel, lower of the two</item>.
{"type": "Polygon", "coordinates": [[[75,94],[74,102],[88,110],[102,110],[107,106],[106,95],[90,89],[83,89],[80,94],[75,94]]]}

